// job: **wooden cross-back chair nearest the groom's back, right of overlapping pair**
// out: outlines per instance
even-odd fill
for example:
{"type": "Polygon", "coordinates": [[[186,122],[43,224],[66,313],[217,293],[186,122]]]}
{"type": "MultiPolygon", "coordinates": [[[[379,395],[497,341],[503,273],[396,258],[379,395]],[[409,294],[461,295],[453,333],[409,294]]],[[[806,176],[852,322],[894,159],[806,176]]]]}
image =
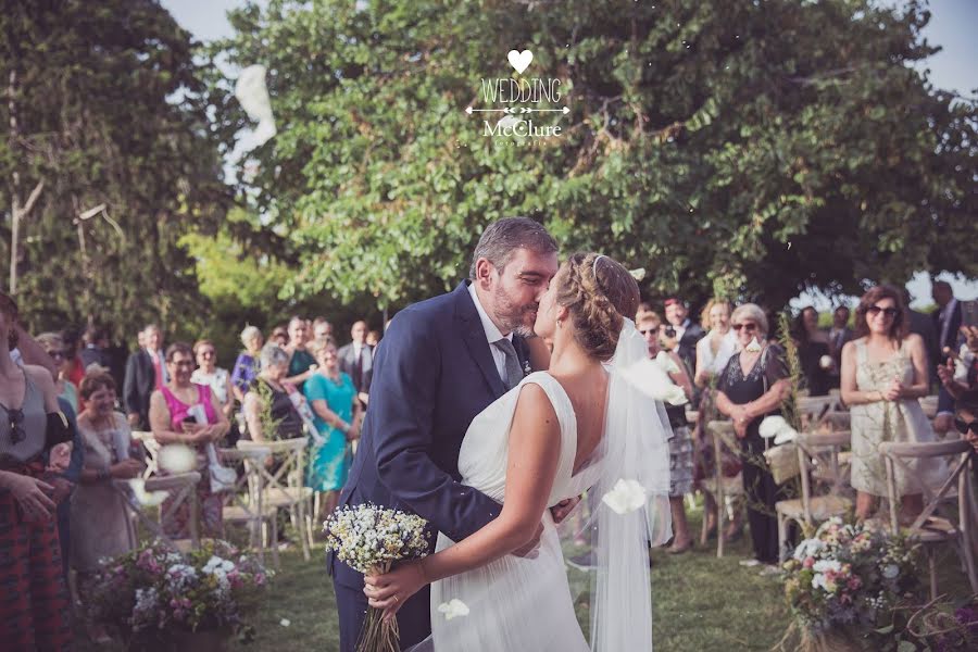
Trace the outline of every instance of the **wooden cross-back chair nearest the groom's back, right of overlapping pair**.
{"type": "Polygon", "coordinates": [[[261,466],[261,474],[264,478],[262,502],[276,510],[287,509],[289,511],[292,527],[299,532],[302,556],[309,561],[313,527],[310,502],[313,490],[304,484],[306,438],[297,437],[278,441],[239,440],[237,446],[242,451],[265,448],[271,451],[273,457],[280,461],[280,465],[274,473],[269,472],[264,464],[261,466]]]}

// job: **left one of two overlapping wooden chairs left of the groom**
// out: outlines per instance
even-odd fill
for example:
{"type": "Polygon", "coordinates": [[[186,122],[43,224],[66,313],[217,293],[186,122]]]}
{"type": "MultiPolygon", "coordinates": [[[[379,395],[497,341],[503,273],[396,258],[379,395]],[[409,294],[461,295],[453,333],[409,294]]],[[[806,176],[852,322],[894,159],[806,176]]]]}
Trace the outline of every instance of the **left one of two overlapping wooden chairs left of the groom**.
{"type": "Polygon", "coordinates": [[[264,504],[265,476],[262,469],[272,454],[267,447],[248,449],[221,449],[222,460],[230,466],[240,463],[243,474],[238,476],[234,489],[224,493],[222,518],[225,523],[242,523],[248,526],[249,546],[258,550],[259,561],[265,563],[265,549],[272,549],[275,567],[278,560],[278,509],[264,504]],[[271,530],[271,531],[269,531],[271,530]]]}

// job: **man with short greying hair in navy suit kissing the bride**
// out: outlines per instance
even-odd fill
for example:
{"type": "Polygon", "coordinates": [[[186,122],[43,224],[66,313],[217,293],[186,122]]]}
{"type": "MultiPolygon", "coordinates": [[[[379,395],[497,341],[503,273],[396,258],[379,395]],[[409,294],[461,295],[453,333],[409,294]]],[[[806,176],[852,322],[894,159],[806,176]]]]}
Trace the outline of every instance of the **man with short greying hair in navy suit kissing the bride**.
{"type": "MultiPolygon", "coordinates": [[[[460,541],[492,521],[499,503],[459,482],[459,449],[472,419],[529,369],[540,297],[557,271],[557,247],[532,220],[510,217],[482,233],[469,280],[399,312],[374,359],[371,409],[340,505],[413,512],[460,541]]],[[[340,648],[353,652],[367,610],[363,576],[331,554],[340,648]]],[[[431,631],[430,592],[398,612],[401,647],[431,631]]]]}

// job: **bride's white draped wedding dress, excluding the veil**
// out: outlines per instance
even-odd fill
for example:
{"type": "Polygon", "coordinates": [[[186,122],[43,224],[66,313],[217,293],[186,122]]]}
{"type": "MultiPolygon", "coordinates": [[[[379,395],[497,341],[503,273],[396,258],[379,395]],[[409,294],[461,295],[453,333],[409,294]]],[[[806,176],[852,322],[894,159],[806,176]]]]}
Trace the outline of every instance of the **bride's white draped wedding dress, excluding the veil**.
{"type": "MultiPolygon", "coordinates": [[[[510,425],[519,389],[536,384],[547,392],[561,426],[561,454],[548,505],[580,496],[597,480],[595,465],[573,473],[577,419],[570,399],[553,376],[538,372],[500,397],[473,419],[459,452],[462,482],[489,498],[505,499],[510,425]]],[[[453,541],[438,536],[437,550],[453,541]]],[[[431,585],[434,649],[575,652],[589,650],[574,614],[561,539],[550,512],[534,559],[506,555],[481,568],[431,585]],[[461,600],[468,615],[447,619],[439,605],[461,600]]]]}

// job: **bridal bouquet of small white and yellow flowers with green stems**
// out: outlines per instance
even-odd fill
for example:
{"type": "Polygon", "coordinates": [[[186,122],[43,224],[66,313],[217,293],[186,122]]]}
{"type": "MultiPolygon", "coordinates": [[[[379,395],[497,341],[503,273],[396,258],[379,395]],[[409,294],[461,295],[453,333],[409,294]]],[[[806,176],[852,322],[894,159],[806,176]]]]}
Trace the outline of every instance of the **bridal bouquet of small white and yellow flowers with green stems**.
{"type": "MultiPolygon", "coordinates": [[[[383,575],[394,562],[428,554],[427,522],[415,514],[373,504],[343,506],[323,523],[326,550],[364,575],[383,575]]],[[[371,607],[356,642],[358,652],[398,652],[398,622],[385,623],[371,607]]]]}

